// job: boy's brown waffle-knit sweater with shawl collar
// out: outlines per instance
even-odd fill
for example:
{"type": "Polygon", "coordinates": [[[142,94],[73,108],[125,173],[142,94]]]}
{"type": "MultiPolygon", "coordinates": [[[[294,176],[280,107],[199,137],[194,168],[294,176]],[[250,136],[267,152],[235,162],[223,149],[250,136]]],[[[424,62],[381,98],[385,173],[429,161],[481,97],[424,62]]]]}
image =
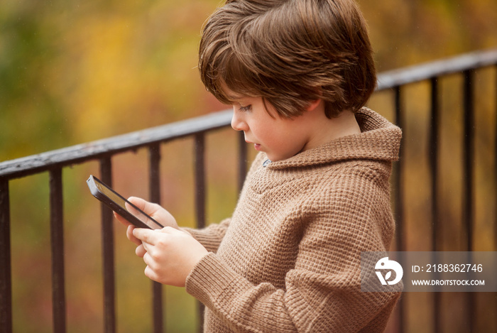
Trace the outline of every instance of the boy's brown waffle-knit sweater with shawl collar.
{"type": "Polygon", "coordinates": [[[189,230],[209,253],[187,278],[204,332],[383,332],[398,293],[361,292],[361,251],[388,251],[401,131],[374,111],[362,133],[264,166],[231,219],[189,230]]]}

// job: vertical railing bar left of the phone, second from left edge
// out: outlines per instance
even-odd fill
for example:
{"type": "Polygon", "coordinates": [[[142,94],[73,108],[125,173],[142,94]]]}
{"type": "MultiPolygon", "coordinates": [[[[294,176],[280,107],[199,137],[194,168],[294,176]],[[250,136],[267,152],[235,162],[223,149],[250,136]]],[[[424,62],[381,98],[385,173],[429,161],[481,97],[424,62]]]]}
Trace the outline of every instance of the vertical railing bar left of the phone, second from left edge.
{"type": "Polygon", "coordinates": [[[50,170],[53,332],[66,332],[62,169],[50,170]]]}

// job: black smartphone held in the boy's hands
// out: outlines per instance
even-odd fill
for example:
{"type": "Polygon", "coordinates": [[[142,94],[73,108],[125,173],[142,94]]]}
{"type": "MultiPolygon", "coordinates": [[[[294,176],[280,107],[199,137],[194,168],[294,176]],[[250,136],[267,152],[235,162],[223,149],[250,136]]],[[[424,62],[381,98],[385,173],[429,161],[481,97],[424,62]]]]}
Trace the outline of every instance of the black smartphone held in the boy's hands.
{"type": "Polygon", "coordinates": [[[152,217],[148,216],[141,209],[134,204],[124,199],[118,192],[112,190],[104,182],[99,180],[94,175],[90,175],[87,180],[89,192],[101,202],[107,205],[110,209],[114,210],[117,214],[127,219],[131,224],[138,228],[148,229],[163,229],[163,225],[155,221],[152,217]]]}

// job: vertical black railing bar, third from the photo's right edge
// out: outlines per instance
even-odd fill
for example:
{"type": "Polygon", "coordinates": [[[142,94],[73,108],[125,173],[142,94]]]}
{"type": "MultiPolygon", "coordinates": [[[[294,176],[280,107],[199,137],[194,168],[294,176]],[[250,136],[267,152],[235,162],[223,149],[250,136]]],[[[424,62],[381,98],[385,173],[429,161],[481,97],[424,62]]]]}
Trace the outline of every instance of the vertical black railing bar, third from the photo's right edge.
{"type": "MultiPolygon", "coordinates": [[[[432,176],[431,199],[432,199],[432,251],[441,251],[438,246],[439,235],[442,234],[442,226],[438,219],[438,143],[439,143],[439,85],[438,77],[431,79],[431,124],[430,124],[430,175],[432,176]]],[[[433,332],[442,332],[442,308],[441,293],[433,294],[433,332]]]]}

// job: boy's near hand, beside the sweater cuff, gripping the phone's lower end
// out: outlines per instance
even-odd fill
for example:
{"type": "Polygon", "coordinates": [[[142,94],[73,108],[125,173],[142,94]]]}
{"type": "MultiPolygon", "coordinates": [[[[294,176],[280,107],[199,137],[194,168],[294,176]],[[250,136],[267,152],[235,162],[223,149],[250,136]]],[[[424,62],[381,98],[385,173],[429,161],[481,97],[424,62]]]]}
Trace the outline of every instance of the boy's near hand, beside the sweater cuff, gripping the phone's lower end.
{"type": "Polygon", "coordinates": [[[166,285],[184,287],[195,264],[208,253],[186,231],[170,226],[160,230],[136,228],[132,235],[140,241],[136,255],[147,265],[145,275],[166,285]]]}

